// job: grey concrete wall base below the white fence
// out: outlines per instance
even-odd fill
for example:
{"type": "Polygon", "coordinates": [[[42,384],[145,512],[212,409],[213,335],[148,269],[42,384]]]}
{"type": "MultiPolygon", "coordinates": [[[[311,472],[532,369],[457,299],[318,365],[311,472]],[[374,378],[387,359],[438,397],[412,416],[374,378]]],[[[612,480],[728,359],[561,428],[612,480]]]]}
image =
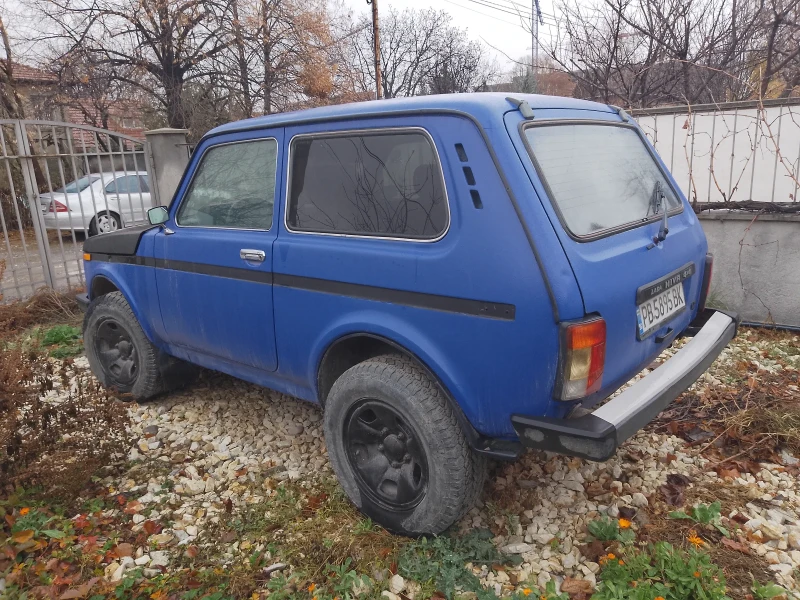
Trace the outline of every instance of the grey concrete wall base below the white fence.
{"type": "Polygon", "coordinates": [[[699,215],[714,254],[710,304],[800,327],[800,215],[699,215]]]}

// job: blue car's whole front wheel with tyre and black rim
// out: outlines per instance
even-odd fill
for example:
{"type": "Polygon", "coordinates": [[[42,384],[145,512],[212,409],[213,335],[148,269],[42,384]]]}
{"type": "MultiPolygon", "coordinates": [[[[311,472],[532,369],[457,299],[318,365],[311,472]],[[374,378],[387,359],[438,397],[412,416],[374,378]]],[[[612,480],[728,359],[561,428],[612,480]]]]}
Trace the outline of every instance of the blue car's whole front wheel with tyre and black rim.
{"type": "Polygon", "coordinates": [[[83,319],[83,342],[89,366],[100,383],[134,400],[145,400],[166,390],[159,350],[120,292],[92,301],[83,319]]]}

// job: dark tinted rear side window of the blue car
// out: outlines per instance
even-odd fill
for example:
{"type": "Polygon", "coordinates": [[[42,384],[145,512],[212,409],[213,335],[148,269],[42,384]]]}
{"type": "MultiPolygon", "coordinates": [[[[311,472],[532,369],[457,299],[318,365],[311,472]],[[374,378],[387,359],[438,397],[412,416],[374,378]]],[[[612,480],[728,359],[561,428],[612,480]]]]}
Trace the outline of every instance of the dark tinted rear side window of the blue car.
{"type": "Polygon", "coordinates": [[[351,132],[292,142],[294,231],[436,239],[449,224],[436,150],[421,132],[351,132]]]}

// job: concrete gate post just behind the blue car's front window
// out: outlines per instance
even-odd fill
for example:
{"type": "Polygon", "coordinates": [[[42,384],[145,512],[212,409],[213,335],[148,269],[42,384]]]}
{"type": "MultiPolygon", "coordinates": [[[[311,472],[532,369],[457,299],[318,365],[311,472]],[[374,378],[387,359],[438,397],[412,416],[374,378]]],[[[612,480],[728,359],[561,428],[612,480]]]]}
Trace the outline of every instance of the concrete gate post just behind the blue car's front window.
{"type": "Polygon", "coordinates": [[[155,193],[154,206],[167,206],[189,164],[187,129],[145,131],[147,173],[155,193]]]}

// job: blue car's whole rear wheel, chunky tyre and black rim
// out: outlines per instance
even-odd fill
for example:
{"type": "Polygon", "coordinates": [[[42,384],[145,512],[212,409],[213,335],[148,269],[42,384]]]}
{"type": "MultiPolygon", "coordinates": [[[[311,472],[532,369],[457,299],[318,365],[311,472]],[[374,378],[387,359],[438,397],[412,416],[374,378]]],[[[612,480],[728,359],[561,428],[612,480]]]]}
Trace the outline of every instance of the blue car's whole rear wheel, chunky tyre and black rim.
{"type": "Polygon", "coordinates": [[[486,459],[469,447],[436,383],[407,357],[348,369],[331,388],[324,425],[345,493],[393,533],[441,533],[483,488],[486,459]]]}

